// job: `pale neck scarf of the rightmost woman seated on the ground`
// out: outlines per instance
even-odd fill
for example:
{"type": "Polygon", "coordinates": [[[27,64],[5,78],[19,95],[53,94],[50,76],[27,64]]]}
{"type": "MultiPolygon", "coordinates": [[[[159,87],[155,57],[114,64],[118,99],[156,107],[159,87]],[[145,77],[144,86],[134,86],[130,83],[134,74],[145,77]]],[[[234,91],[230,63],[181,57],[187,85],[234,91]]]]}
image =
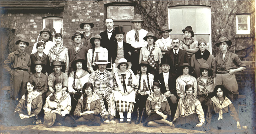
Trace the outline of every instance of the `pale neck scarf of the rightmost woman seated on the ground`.
{"type": "Polygon", "coordinates": [[[218,118],[218,120],[220,120],[220,119],[222,120],[222,119],[223,119],[223,116],[222,116],[222,114],[223,114],[222,109],[225,108],[225,107],[227,107],[228,105],[230,105],[232,102],[228,99],[228,97],[225,97],[225,99],[224,99],[223,102],[222,102],[222,105],[220,105],[220,100],[219,100],[219,98],[216,97],[216,96],[212,97],[212,102],[213,102],[217,107],[220,108],[220,113],[219,113],[219,118],[218,118]]]}

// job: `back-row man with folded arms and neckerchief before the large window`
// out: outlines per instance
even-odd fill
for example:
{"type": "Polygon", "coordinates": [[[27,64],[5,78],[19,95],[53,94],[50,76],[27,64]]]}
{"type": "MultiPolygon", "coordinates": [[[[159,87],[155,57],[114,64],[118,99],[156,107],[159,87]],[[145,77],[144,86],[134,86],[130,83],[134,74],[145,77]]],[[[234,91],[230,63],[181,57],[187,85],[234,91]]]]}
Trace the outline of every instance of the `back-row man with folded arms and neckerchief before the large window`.
{"type": "Polygon", "coordinates": [[[182,32],[185,37],[180,41],[180,49],[188,52],[188,63],[190,63],[192,55],[199,50],[198,42],[192,38],[195,35],[191,26],[187,26],[182,32]]]}

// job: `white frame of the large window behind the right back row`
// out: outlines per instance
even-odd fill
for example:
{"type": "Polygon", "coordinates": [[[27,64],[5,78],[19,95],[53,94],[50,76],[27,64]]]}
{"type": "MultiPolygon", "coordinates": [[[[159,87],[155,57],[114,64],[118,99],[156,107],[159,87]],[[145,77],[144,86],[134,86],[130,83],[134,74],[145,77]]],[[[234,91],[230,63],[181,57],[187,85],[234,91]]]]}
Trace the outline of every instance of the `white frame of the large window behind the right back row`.
{"type": "MultiPolygon", "coordinates": [[[[168,26],[169,26],[169,29],[171,28],[171,22],[170,22],[170,10],[171,9],[184,9],[184,8],[208,8],[209,9],[209,14],[212,16],[212,13],[211,13],[211,7],[209,6],[199,6],[199,5],[188,5],[188,6],[174,6],[174,7],[169,7],[168,8],[168,26]]],[[[177,16],[179,17],[179,16],[177,16]]],[[[211,17],[210,17],[211,18],[211,17]]],[[[212,18],[211,18],[212,19],[212,18]]],[[[183,21],[182,21],[183,23],[183,21]]],[[[182,29],[180,29],[181,31],[182,29]]],[[[195,33],[194,32],[194,35],[209,35],[209,51],[210,53],[212,53],[212,20],[210,21],[209,23],[209,33],[195,33]]],[[[183,33],[182,34],[172,34],[172,32],[170,32],[170,35],[184,35],[183,33]]],[[[170,36],[169,35],[169,36],[170,36]]],[[[199,45],[199,44],[198,44],[199,45]]]]}

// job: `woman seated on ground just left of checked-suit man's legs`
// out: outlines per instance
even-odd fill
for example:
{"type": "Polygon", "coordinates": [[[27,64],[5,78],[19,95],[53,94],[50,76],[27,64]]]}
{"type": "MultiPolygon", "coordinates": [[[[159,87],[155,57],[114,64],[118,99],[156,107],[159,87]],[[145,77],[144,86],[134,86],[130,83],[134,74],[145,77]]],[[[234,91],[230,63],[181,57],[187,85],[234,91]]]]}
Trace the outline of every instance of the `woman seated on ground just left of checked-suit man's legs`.
{"type": "Polygon", "coordinates": [[[92,83],[85,83],[82,89],[85,94],[78,100],[74,112],[78,124],[100,126],[100,97],[93,93],[92,83]]]}

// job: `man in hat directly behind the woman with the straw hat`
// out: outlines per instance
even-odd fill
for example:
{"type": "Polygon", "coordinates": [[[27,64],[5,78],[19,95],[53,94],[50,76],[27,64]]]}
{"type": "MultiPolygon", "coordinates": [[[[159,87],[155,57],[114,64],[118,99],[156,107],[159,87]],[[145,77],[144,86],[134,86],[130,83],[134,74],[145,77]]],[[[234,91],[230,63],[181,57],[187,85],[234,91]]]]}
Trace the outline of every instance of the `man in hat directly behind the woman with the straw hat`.
{"type": "Polygon", "coordinates": [[[61,64],[60,61],[54,61],[52,64],[52,69],[54,70],[54,72],[48,76],[48,86],[49,86],[49,91],[51,91],[51,92],[54,92],[54,90],[53,90],[54,81],[57,78],[59,78],[63,81],[63,83],[62,83],[63,91],[66,91],[68,88],[68,75],[61,71],[62,66],[65,66],[65,65],[61,64]]]}

